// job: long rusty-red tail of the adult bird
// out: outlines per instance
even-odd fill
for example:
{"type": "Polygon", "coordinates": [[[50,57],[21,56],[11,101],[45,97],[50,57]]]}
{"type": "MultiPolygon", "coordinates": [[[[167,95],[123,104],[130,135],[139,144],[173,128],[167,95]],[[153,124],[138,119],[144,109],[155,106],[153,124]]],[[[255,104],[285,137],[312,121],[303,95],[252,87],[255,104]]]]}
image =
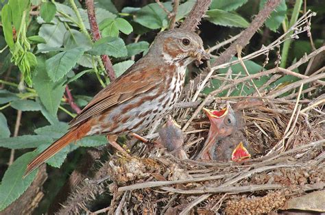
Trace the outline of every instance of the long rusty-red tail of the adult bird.
{"type": "Polygon", "coordinates": [[[35,157],[34,160],[27,165],[23,177],[26,177],[29,175],[29,173],[32,173],[32,171],[38,168],[38,166],[44,164],[47,160],[49,160],[49,158],[58,153],[64,147],[67,147],[70,142],[80,140],[86,136],[90,129],[91,127],[89,126],[89,123],[86,122],[79,127],[75,127],[68,131],[67,134],[64,134],[64,136],[56,140],[56,142],[53,142],[47,149],[45,149],[45,151],[40,153],[40,155],[35,157]]]}

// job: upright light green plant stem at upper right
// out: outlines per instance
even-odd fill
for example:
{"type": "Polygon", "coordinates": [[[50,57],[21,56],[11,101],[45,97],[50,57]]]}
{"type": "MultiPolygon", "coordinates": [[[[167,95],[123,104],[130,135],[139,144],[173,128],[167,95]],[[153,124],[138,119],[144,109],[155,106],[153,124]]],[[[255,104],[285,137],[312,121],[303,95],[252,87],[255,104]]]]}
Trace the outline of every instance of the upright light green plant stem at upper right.
{"type": "MultiPolygon", "coordinates": [[[[295,3],[295,6],[293,8],[292,16],[290,18],[289,28],[292,27],[294,25],[294,23],[296,23],[296,21],[298,20],[301,5],[302,5],[302,0],[297,0],[295,3]]],[[[287,37],[289,38],[291,36],[291,34],[292,33],[288,34],[287,37]]],[[[281,55],[282,60],[281,60],[281,64],[280,64],[280,67],[282,67],[282,68],[285,68],[286,64],[287,64],[287,58],[288,58],[290,44],[291,44],[291,39],[286,40],[285,43],[283,44],[282,55],[281,55]]]]}

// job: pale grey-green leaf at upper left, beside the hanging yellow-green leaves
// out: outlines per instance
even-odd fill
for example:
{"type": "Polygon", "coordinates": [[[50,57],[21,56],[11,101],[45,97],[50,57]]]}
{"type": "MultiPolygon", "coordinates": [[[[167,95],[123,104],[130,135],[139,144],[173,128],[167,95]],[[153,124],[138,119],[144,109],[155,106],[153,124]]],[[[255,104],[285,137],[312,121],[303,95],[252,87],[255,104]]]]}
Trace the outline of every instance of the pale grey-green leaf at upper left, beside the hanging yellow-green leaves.
{"type": "Polygon", "coordinates": [[[57,18],[53,18],[55,25],[43,24],[38,31],[38,36],[44,38],[46,43],[40,43],[37,45],[38,49],[48,49],[53,47],[62,47],[64,34],[67,29],[64,24],[58,21],[57,18]]]}

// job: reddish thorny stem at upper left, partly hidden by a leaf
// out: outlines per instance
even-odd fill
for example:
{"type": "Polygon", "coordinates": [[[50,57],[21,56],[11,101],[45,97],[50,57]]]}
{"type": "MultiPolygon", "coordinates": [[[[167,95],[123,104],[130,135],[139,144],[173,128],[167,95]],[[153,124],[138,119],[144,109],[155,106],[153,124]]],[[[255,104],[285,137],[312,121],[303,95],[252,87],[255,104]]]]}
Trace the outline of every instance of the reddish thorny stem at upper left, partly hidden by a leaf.
{"type": "MultiPolygon", "coordinates": [[[[87,8],[89,24],[91,25],[91,31],[93,32],[93,40],[97,41],[101,38],[101,34],[99,32],[98,24],[96,21],[94,1],[86,0],[86,8],[87,8]]],[[[112,62],[110,61],[110,58],[108,58],[108,55],[101,55],[101,61],[105,66],[108,77],[110,77],[110,81],[115,80],[116,75],[113,69],[112,62]]]]}

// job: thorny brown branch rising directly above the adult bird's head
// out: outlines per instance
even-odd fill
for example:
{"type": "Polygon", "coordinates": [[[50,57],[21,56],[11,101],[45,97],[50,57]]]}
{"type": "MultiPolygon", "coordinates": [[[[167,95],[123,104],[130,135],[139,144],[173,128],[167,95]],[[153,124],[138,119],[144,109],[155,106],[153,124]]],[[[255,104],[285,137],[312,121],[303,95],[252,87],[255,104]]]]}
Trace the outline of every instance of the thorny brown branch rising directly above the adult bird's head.
{"type": "Polygon", "coordinates": [[[197,0],[189,16],[187,16],[182,25],[180,25],[180,28],[194,31],[200,23],[202,16],[205,14],[206,10],[208,10],[210,3],[211,0],[197,0]]]}

